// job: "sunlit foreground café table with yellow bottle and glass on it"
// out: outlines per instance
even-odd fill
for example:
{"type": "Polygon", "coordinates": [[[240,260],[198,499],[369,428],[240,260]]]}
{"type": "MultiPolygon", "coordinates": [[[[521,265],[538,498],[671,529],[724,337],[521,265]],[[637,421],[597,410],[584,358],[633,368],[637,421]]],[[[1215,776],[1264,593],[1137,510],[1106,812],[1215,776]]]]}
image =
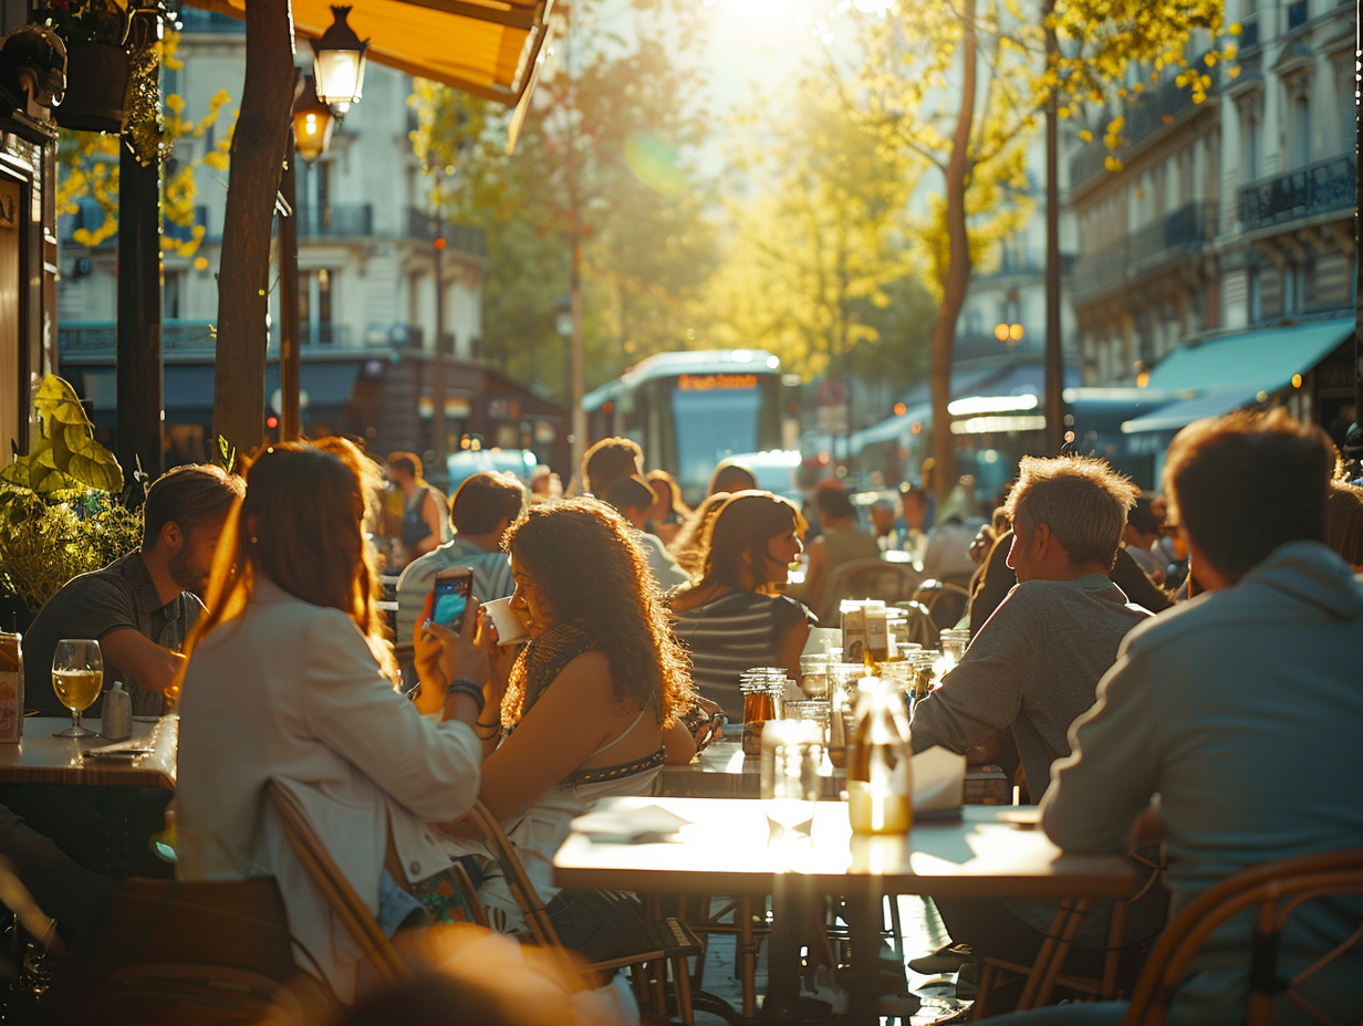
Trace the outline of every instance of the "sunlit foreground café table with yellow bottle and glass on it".
{"type": "MultiPolygon", "coordinates": [[[[560,887],[673,894],[780,895],[799,890],[846,899],[853,966],[848,981],[852,1022],[876,1022],[880,909],[889,895],[953,898],[1054,898],[1063,933],[1077,928],[1090,898],[1130,892],[1134,872],[1119,856],[1062,853],[1037,828],[1007,822],[1015,809],[966,805],[958,819],[915,824],[908,837],[859,837],[842,803],[815,805],[810,838],[771,838],[759,800],[608,798],[600,812],[658,807],[686,820],[675,835],[641,839],[577,830],[553,858],[560,887]]],[[[1022,1001],[1048,989],[1063,946],[1048,937],[1022,1001]]]]}

